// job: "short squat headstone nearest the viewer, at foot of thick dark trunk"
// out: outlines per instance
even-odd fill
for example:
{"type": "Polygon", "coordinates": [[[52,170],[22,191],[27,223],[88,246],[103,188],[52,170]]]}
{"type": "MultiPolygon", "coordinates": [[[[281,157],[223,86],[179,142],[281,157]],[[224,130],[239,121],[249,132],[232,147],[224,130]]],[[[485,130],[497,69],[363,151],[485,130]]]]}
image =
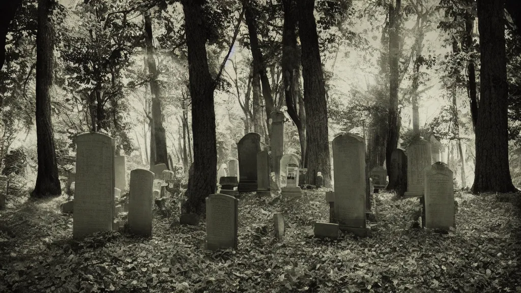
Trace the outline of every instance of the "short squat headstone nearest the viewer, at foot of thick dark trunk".
{"type": "Polygon", "coordinates": [[[239,200],[226,194],[206,198],[206,244],[208,250],[237,248],[239,200]]]}

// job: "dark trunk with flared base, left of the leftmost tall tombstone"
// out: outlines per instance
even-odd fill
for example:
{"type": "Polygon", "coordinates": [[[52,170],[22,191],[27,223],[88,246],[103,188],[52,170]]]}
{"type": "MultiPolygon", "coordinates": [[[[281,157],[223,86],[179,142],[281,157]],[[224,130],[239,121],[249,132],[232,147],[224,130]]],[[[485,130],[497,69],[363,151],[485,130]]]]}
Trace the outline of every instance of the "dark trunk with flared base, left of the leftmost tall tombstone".
{"type": "Polygon", "coordinates": [[[51,0],[38,1],[38,33],[36,34],[36,145],[38,148],[38,177],[32,196],[41,198],[61,194],[58,165],[51,119],[53,82],[54,30],[49,19],[51,0]]]}

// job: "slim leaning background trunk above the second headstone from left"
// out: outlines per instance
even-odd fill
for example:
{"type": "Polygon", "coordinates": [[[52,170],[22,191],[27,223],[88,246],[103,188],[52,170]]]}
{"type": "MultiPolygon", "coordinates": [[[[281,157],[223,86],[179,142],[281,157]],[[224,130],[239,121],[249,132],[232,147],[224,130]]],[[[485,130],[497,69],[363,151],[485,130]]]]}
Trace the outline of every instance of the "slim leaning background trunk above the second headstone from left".
{"type": "Polygon", "coordinates": [[[157,67],[154,58],[154,45],[152,42],[152,19],[150,10],[143,13],[145,18],[145,43],[148,72],[151,74],[150,93],[152,94],[152,133],[156,156],[154,164],[166,164],[168,166],[168,151],[166,148],[165,128],[163,127],[163,112],[161,108],[161,89],[157,83],[157,67]]]}

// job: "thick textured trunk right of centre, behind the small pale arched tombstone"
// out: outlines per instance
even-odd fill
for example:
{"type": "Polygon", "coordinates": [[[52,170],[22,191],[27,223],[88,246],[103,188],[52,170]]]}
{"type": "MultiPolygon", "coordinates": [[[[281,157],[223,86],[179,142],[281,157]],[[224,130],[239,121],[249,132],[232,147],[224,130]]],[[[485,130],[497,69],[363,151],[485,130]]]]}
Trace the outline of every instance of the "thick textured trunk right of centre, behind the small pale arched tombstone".
{"type": "Polygon", "coordinates": [[[320,61],[317,26],[313,10],[315,0],[299,3],[299,35],[302,44],[302,76],[307,123],[307,179],[315,185],[322,173],[324,186],[331,187],[328,117],[324,72],[320,61]]]}

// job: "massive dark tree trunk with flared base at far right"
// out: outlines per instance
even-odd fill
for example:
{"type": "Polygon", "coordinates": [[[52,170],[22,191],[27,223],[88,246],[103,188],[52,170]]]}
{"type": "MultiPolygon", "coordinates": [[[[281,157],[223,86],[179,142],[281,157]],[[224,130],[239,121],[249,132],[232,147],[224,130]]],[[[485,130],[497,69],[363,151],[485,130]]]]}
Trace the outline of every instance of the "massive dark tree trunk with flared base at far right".
{"type": "Polygon", "coordinates": [[[514,192],[517,189],[512,184],[508,166],[505,0],[478,0],[477,4],[481,86],[472,191],[514,192]]]}

